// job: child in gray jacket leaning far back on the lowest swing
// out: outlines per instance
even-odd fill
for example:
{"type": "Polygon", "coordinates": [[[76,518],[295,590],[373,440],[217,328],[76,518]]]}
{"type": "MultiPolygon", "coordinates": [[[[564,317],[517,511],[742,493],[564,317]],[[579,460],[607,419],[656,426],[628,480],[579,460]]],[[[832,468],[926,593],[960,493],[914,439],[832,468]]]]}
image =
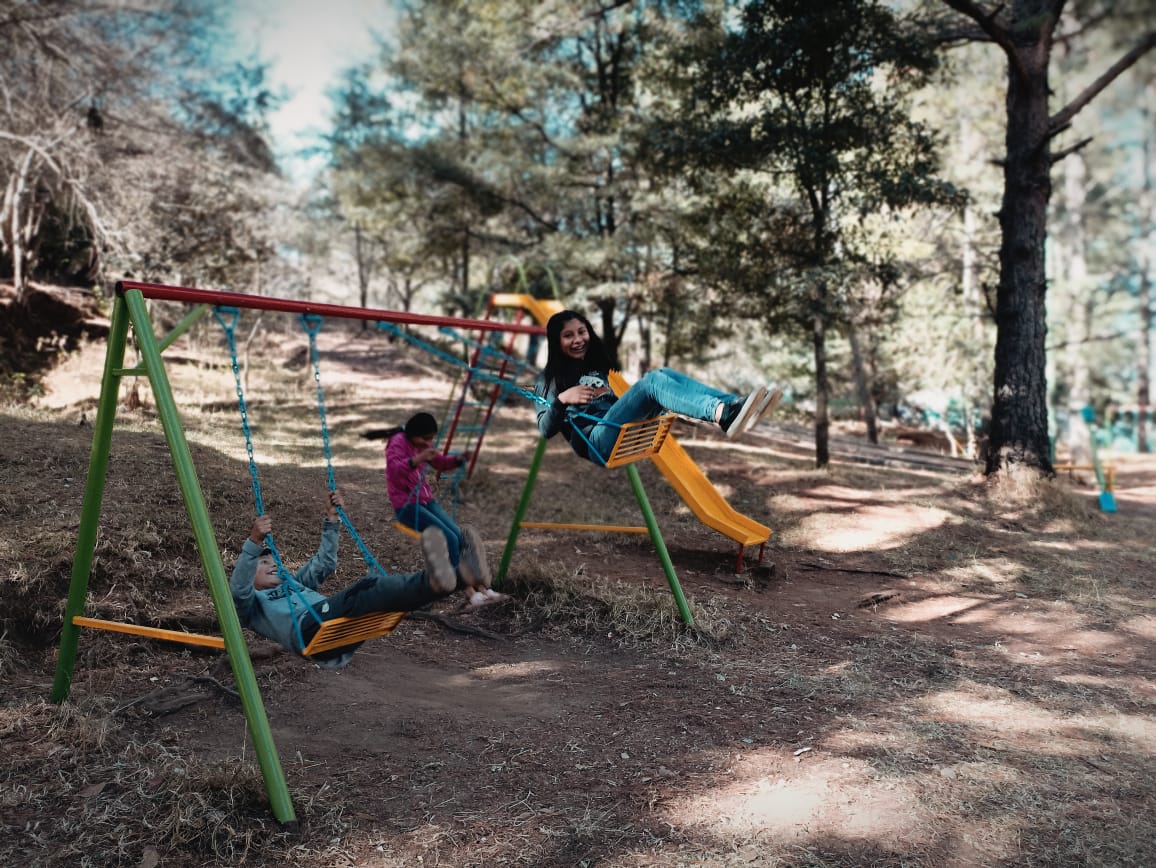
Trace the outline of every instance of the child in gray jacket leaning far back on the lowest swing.
{"type": "MultiPolygon", "coordinates": [[[[392,576],[371,573],[326,596],[320,592],[321,584],[338,569],[341,531],[338,507],[344,507],[341,492],[331,491],[321,525],[321,543],[317,554],[294,573],[296,587],[282,583],[273,552],[265,546],[266,535],[273,532],[273,520],[268,514],[253,520],[229,579],[232,602],[243,626],[298,653],[320,629],[318,618],[325,622],[371,611],[413,611],[452,594],[459,586],[472,595],[489,588],[492,577],[477,531],[469,526],[461,528],[461,561],[455,570],[450,562],[445,535],[430,527],[422,533],[424,570],[392,576]]],[[[335,648],[311,659],[321,666],[341,667],[349,662],[356,648],[357,645],[335,648]]]]}

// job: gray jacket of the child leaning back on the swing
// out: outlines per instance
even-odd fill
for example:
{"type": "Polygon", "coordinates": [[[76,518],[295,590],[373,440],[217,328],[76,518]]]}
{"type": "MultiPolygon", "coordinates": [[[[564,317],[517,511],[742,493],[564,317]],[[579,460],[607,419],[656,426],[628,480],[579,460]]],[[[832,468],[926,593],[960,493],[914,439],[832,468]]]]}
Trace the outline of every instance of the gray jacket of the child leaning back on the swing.
{"type": "Polygon", "coordinates": [[[318,588],[338,569],[340,532],[340,521],[325,520],[321,525],[321,544],[317,554],[294,573],[294,579],[301,587],[292,592],[284,581],[268,591],[257,591],[253,587],[257,561],[265,547],[246,539],[229,578],[229,591],[232,592],[232,603],[237,608],[240,623],[261,636],[281,643],[290,651],[301,653],[294,623],[297,621],[301,621],[302,625],[313,623],[313,616],[309,614],[302,598],[309,601],[318,615],[323,615],[321,609],[326,606],[325,595],[318,593],[318,588]]]}

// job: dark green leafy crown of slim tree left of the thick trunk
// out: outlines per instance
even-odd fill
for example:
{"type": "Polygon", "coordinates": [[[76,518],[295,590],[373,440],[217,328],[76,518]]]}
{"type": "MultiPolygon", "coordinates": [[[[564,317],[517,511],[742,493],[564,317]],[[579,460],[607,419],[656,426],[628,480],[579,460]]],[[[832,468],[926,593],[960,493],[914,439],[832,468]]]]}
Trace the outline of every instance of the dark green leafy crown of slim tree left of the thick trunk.
{"type": "Polygon", "coordinates": [[[697,261],[772,327],[847,321],[855,307],[839,288],[901,273],[867,224],[961,201],[938,176],[936,138],[910,114],[935,54],[880,5],[749,3],[734,29],[702,21],[684,64],[701,72],[655,125],[655,151],[712,192],[692,217],[716,227],[697,261]]]}

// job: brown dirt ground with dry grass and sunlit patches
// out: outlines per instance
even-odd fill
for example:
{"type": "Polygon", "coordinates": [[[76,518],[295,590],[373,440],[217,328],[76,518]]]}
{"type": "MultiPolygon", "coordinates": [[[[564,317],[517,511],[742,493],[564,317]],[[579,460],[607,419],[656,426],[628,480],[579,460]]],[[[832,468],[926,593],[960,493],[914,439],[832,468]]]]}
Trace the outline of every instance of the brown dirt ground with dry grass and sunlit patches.
{"type": "MultiPolygon", "coordinates": [[[[262,335],[247,400],[266,507],[312,552],[326,472],[302,341],[262,335]],[[311,439],[312,438],[312,439],[311,439]]],[[[335,476],[388,569],[368,428],[438,415],[453,371],[383,335],[323,335],[335,476]]],[[[526,531],[504,591],[408,618],[341,670],[246,633],[299,825],[276,824],[215,651],[81,636],[47,702],[91,447],[99,347],[0,410],[0,858],[23,866],[1142,866],[1156,863],[1156,460],[992,489],[970,465],[836,442],[790,415],[675,436],[773,528],[762,566],[642,466],[696,624],[642,535],[526,531]]],[[[166,353],[227,566],[253,497],[212,332],[166,353]]],[[[127,394],[127,386],[126,386],[127,394]]],[[[90,614],[213,632],[165,440],[121,410],[90,614]]],[[[454,495],[497,564],[536,431],[517,395],[454,495]]],[[[639,524],[625,475],[551,444],[528,518],[639,524]]],[[[343,542],[336,583],[361,572],[343,542]]]]}

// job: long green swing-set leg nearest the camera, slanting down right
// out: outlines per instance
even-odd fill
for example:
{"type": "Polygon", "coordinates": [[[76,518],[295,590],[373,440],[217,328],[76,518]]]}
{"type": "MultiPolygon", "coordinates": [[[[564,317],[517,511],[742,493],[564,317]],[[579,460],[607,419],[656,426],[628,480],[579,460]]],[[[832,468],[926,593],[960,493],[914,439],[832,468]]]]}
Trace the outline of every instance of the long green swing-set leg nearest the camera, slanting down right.
{"type": "Polygon", "coordinates": [[[125,291],[124,298],[133,320],[141,358],[148,370],[157,415],[164,428],[164,438],[172,455],[180,494],[185,498],[185,509],[188,511],[197,549],[201,555],[205,576],[209,581],[209,594],[216,607],[217,622],[221,625],[221,635],[224,637],[224,647],[229,654],[232,675],[237,682],[240,705],[245,712],[245,719],[249,721],[257,761],[265,776],[265,788],[269,795],[273,816],[281,823],[296,823],[297,818],[294,814],[292,800],[289,796],[289,787],[286,784],[284,771],[281,769],[281,758],[277,756],[277,749],[273,742],[273,732],[269,729],[269,721],[265,714],[265,704],[261,702],[261,692],[257,687],[257,676],[249,658],[245,637],[240,631],[240,621],[232,606],[232,594],[229,592],[224,565],[221,563],[221,551],[217,548],[213,524],[209,521],[205,495],[201,492],[200,482],[197,478],[193,457],[188,451],[188,442],[185,439],[185,432],[180,424],[180,413],[177,410],[177,403],[172,396],[169,376],[164,370],[164,362],[161,358],[161,351],[149,322],[144,297],[140,290],[131,289],[125,291]]]}

